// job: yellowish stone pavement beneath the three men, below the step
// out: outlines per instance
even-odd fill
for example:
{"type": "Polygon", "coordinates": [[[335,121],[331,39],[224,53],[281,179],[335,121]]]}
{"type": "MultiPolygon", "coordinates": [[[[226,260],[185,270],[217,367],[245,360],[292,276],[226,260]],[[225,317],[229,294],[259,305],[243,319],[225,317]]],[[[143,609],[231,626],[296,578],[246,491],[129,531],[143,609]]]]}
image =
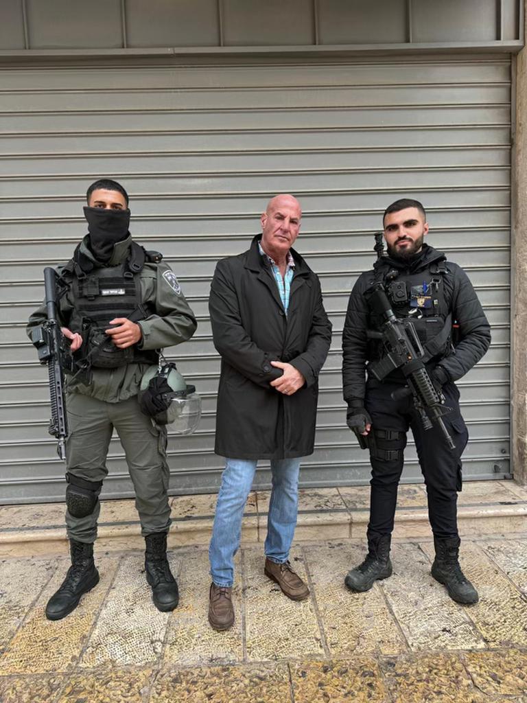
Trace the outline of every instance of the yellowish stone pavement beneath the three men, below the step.
{"type": "Polygon", "coordinates": [[[261,543],[246,541],[226,633],[207,623],[204,545],[171,550],[181,603],[170,614],[152,604],[141,551],[96,546],[100,583],[58,622],[44,607],[65,555],[10,555],[0,560],[0,702],[527,703],[527,529],[507,533],[464,539],[462,567],[481,598],[471,607],[431,578],[429,535],[402,534],[393,576],[360,594],[343,581],[363,538],[295,543],[304,602],[266,579],[261,543]]]}

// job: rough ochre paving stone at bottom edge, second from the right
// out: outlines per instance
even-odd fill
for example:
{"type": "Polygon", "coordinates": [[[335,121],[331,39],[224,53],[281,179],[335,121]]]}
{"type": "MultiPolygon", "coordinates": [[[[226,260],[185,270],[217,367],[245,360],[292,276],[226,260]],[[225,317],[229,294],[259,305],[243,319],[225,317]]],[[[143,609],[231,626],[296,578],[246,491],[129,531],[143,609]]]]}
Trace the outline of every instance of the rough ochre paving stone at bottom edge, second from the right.
{"type": "Polygon", "coordinates": [[[393,703],[493,703],[474,687],[454,654],[381,660],[393,703]]]}

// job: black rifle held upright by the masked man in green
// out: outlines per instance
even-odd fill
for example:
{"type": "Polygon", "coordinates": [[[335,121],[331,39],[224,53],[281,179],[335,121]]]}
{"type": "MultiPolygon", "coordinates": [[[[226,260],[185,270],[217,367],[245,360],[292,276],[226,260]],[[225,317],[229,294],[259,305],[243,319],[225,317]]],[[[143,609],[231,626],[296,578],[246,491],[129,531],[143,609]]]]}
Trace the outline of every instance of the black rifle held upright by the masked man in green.
{"type": "Polygon", "coordinates": [[[49,266],[44,269],[44,290],[47,320],[32,330],[31,341],[37,347],[39,361],[48,366],[51,420],[48,432],[58,439],[58,456],[65,460],[67,418],[64,373],[73,373],[74,361],[68,340],[60,331],[56,303],[57,274],[49,266]]]}

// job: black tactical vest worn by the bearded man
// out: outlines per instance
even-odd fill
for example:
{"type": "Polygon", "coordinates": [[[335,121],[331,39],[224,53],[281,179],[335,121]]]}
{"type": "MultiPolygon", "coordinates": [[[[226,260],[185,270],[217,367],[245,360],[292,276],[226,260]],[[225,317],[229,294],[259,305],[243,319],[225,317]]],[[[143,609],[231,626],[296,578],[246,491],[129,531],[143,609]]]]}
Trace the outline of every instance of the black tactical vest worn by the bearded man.
{"type": "MultiPolygon", "coordinates": [[[[403,273],[388,266],[379,266],[375,282],[381,281],[398,318],[410,318],[424,352],[424,361],[442,359],[451,351],[452,315],[445,298],[445,276],[448,267],[444,261],[431,262],[428,269],[403,273]]],[[[380,321],[370,315],[372,328],[379,329],[380,321]]],[[[382,344],[370,344],[370,359],[382,358],[382,344]]]]}

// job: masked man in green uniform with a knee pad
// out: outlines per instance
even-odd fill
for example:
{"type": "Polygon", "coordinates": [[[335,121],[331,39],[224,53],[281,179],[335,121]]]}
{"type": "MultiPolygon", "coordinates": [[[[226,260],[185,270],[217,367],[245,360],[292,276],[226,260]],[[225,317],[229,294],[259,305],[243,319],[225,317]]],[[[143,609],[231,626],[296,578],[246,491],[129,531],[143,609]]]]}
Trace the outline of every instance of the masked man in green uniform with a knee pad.
{"type": "MultiPolygon", "coordinates": [[[[167,432],[141,412],[138,392],[143,373],[158,363],[157,350],[190,339],[196,320],[161,254],[146,252],[131,238],[124,188],[103,179],[89,187],[86,198],[88,234],[70,262],[57,269],[63,335],[84,372],[70,377],[67,387],[66,525],[72,565],[46,607],[51,620],[72,612],[99,580],[93,542],[114,428],[136,491],[153,601],[162,611],[178,604],[167,561],[167,432]]],[[[43,305],[30,317],[28,334],[45,319],[43,305]]]]}

